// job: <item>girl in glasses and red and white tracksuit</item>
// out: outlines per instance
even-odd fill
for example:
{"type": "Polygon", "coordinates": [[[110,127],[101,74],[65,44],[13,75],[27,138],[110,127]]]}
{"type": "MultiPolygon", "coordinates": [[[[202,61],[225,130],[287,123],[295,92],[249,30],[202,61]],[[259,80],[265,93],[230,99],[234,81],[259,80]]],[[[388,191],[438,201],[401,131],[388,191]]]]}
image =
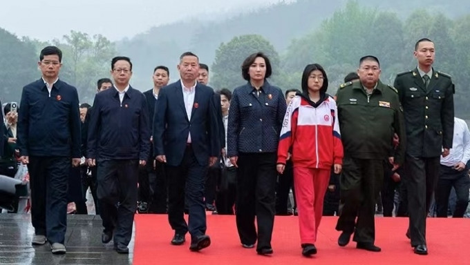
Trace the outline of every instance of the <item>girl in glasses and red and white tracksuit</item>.
{"type": "Polygon", "coordinates": [[[303,92],[288,106],[279,140],[279,173],[283,173],[285,161],[292,153],[302,254],[305,256],[317,253],[314,243],[323,213],[323,197],[332,167],[338,174],[343,159],[337,106],[326,94],[327,88],[325,70],[317,63],[306,66],[302,76],[303,92]]]}

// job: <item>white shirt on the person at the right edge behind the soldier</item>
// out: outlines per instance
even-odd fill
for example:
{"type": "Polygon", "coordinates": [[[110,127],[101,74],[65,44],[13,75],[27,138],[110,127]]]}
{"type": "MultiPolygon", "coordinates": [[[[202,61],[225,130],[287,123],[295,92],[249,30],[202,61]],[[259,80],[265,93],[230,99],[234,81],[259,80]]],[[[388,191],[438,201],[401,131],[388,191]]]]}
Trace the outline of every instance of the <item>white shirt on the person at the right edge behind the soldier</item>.
{"type": "Polygon", "coordinates": [[[453,141],[449,155],[441,156],[441,165],[455,166],[462,161],[467,164],[470,159],[470,131],[463,119],[453,118],[453,141]]]}

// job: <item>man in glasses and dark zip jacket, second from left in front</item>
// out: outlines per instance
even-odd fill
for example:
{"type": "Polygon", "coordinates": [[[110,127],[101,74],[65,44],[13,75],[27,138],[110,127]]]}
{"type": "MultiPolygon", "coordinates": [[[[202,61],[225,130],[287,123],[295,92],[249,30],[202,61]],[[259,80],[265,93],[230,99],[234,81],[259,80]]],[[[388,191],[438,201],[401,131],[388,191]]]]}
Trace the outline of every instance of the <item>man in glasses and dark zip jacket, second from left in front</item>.
{"type": "Polygon", "coordinates": [[[150,130],[147,100],[129,85],[132,63],[128,57],[111,61],[113,88],[95,96],[88,125],[88,165],[97,166],[97,197],[104,230],[102,242],[111,241],[118,253],[129,253],[137,210],[138,168],[149,159],[150,130]]]}

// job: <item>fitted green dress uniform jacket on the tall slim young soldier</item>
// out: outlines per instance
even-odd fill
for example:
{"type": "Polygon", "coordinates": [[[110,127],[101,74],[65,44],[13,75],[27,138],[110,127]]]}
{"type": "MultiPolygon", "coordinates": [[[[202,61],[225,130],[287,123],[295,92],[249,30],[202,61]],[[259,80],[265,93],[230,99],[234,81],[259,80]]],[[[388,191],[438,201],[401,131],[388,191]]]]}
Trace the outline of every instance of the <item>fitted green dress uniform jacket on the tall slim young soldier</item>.
{"type": "Polygon", "coordinates": [[[449,75],[433,69],[426,89],[417,68],[395,79],[406,126],[406,154],[439,157],[453,139],[453,92],[449,75]]]}

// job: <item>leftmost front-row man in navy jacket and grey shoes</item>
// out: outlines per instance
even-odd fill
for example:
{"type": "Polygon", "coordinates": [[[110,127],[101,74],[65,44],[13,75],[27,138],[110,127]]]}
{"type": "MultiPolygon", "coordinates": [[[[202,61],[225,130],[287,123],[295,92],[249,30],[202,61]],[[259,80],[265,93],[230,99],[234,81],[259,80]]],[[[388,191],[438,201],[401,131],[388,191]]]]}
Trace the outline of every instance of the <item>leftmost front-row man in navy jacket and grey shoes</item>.
{"type": "Polygon", "coordinates": [[[38,66],[41,79],[21,94],[17,147],[30,175],[32,244],[49,241],[53,254],[65,254],[68,174],[80,164],[78,94],[59,79],[59,48],[41,50],[38,66]]]}

